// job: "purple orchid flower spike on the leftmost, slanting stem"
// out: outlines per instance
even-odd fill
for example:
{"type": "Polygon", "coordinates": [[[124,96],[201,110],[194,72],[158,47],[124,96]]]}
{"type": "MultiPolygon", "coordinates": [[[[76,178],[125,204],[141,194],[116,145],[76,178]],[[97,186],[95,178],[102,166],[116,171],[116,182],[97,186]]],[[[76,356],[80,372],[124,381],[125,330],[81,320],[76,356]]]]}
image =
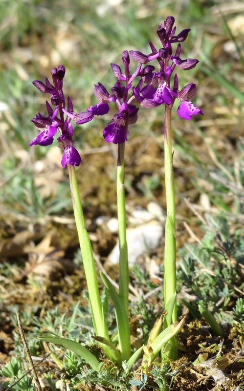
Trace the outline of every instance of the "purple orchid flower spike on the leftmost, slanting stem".
{"type": "MultiPolygon", "coordinates": [[[[49,93],[50,100],[55,109],[53,110],[50,104],[46,101],[47,117],[43,114],[36,114],[35,118],[31,120],[40,132],[29,143],[32,145],[47,146],[53,143],[53,136],[59,131],[60,136],[57,138],[58,147],[64,148],[63,157],[61,160],[62,167],[65,168],[67,164],[72,166],[79,166],[81,157],[79,152],[74,148],[73,127],[71,119],[74,119],[73,104],[69,97],[67,97],[67,110],[65,109],[65,97],[63,92],[63,79],[65,76],[65,67],[59,65],[58,69],[53,68],[51,71],[53,85],[45,78],[45,84],[39,80],[34,80],[33,84],[41,92],[49,93]],[[66,119],[64,114],[67,114],[66,119]]],[[[82,113],[81,113],[82,114],[82,113]]],[[[85,115],[79,123],[89,122],[94,117],[93,113],[85,112],[85,115]]]]}

